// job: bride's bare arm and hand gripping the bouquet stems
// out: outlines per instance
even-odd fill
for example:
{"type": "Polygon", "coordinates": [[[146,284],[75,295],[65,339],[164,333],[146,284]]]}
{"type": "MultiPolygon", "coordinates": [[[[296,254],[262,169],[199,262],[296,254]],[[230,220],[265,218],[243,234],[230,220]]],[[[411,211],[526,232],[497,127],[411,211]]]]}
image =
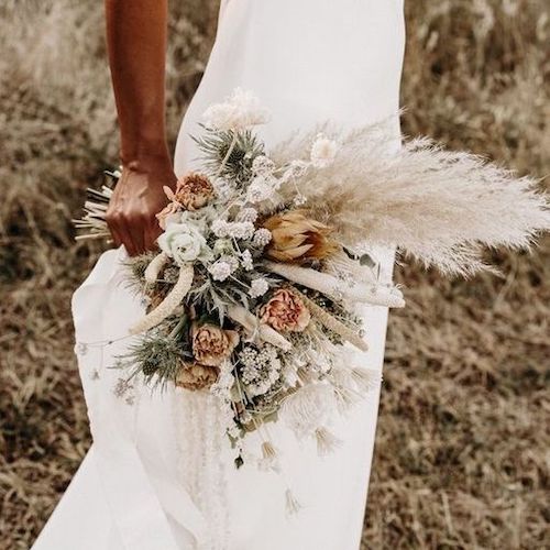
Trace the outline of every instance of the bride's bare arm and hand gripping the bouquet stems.
{"type": "Polygon", "coordinates": [[[134,255],[154,246],[162,187],[176,182],[164,120],[167,0],[106,0],[106,15],[123,165],[107,220],[134,255]]]}

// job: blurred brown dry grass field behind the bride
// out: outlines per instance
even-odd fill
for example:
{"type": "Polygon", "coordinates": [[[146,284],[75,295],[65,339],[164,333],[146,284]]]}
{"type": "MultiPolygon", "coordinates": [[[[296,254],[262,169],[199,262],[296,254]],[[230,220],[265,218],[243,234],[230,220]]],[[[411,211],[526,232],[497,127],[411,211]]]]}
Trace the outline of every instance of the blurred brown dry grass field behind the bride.
{"type": "MultiPolygon", "coordinates": [[[[216,3],[172,2],[172,140],[216,3]]],[[[548,175],[546,0],[406,3],[405,131],[548,175]]],[[[69,219],[117,160],[100,4],[0,6],[2,550],[29,548],[89,446],[69,298],[99,251],[69,219]]],[[[468,284],[397,270],[365,549],[548,548],[549,256],[497,254],[504,277],[468,284]]]]}

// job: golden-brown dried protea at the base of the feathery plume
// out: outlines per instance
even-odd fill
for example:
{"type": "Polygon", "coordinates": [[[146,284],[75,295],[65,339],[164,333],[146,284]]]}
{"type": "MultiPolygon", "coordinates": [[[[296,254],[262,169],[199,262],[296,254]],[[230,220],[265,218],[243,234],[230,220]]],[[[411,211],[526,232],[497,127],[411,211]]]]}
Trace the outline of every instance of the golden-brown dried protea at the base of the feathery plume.
{"type": "Polygon", "coordinates": [[[332,230],[308,218],[305,210],[274,215],[262,226],[272,233],[266,254],[278,262],[323,260],[338,250],[330,239],[332,230]]]}

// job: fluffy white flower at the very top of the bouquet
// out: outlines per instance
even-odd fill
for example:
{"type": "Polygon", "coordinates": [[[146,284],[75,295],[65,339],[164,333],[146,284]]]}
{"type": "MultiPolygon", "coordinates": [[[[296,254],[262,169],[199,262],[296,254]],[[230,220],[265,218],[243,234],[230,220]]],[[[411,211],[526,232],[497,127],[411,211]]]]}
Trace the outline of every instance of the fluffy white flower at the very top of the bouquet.
{"type": "Polygon", "coordinates": [[[270,120],[270,113],[251,91],[237,88],[226,101],[210,106],[202,119],[209,128],[239,131],[265,124],[270,120]]]}

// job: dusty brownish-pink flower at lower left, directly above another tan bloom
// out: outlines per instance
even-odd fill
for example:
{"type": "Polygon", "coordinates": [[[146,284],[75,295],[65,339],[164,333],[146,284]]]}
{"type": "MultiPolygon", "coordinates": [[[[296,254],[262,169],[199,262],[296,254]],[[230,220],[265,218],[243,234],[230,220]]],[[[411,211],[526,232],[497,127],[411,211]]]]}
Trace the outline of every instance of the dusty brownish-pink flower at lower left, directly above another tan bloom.
{"type": "Polygon", "coordinates": [[[198,363],[219,366],[239,344],[239,334],[216,324],[195,324],[191,329],[191,343],[193,354],[198,363]]]}

